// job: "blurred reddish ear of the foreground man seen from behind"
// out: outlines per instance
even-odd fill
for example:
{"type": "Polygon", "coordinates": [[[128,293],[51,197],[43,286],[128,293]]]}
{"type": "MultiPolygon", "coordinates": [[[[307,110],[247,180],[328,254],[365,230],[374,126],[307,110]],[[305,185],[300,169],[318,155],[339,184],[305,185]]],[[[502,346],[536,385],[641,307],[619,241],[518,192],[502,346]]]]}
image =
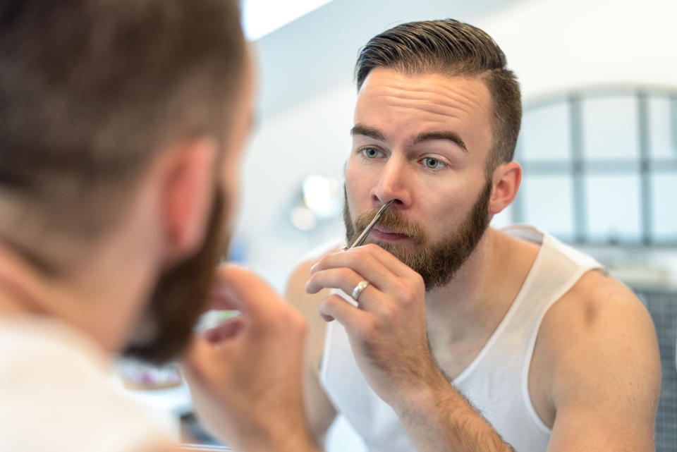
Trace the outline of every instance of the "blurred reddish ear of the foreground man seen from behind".
{"type": "Polygon", "coordinates": [[[170,258],[192,255],[205,240],[216,187],[217,152],[216,142],[211,138],[184,141],[166,152],[161,215],[170,258]]]}

